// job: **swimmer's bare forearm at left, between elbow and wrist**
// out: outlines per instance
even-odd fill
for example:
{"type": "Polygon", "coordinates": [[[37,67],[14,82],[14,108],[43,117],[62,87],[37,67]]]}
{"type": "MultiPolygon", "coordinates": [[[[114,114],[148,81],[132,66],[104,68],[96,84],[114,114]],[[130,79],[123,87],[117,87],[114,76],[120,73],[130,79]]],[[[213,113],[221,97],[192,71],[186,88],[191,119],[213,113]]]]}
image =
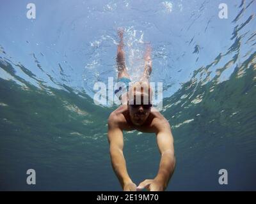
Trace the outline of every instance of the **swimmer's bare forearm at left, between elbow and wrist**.
{"type": "Polygon", "coordinates": [[[113,170],[115,171],[121,186],[124,187],[125,183],[132,182],[127,172],[122,150],[110,148],[110,156],[113,170]]]}

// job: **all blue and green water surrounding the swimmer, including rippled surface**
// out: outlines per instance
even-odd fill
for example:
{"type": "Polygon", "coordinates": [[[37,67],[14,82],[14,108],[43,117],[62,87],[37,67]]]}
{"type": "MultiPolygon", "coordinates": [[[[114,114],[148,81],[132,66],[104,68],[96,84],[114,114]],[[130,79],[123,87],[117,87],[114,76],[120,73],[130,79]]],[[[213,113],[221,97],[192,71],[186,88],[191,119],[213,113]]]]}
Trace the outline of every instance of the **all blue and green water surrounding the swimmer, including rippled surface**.
{"type": "MultiPolygon", "coordinates": [[[[120,27],[132,80],[149,42],[150,81],[163,82],[176,157],[166,191],[256,190],[255,0],[35,0],[35,18],[28,4],[0,6],[1,191],[122,191],[107,135],[118,105],[93,101],[96,82],[117,78],[120,27]]],[[[133,182],[153,179],[156,136],[124,142],[133,182]]]]}

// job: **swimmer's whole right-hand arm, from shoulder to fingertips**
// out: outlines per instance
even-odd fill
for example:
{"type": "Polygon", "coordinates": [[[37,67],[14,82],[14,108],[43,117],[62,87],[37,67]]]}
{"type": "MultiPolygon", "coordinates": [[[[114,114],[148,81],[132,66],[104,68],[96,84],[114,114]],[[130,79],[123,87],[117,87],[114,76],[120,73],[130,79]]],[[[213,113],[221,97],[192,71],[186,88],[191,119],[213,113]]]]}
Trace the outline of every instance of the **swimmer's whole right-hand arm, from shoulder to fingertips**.
{"type": "Polygon", "coordinates": [[[175,168],[173,136],[167,120],[159,120],[156,124],[157,145],[161,154],[159,170],[154,179],[146,179],[137,187],[138,190],[147,188],[150,191],[164,191],[172,177],[175,168]]]}

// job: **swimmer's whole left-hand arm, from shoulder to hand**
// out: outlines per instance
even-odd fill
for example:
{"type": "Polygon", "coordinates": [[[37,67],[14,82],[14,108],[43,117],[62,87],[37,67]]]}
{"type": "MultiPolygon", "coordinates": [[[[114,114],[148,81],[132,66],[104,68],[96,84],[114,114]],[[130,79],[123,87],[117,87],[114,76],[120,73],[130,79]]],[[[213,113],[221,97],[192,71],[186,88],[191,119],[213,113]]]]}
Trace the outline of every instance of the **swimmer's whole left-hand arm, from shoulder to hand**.
{"type": "Polygon", "coordinates": [[[111,164],[124,191],[136,191],[136,185],[130,179],[123,154],[124,138],[122,130],[116,124],[116,116],[108,119],[108,142],[111,164]]]}

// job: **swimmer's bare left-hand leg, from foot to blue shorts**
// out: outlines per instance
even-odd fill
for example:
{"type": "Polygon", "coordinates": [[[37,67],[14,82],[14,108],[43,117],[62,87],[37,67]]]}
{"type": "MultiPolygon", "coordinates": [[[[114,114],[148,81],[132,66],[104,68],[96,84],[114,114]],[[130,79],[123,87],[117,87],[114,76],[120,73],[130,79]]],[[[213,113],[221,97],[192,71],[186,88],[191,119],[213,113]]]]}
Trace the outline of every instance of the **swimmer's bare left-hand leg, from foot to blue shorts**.
{"type": "Polygon", "coordinates": [[[123,40],[123,29],[118,30],[118,36],[120,38],[120,42],[117,47],[117,55],[116,55],[116,63],[117,63],[117,70],[118,70],[118,79],[125,77],[130,78],[125,67],[125,54],[124,54],[124,40],[123,40]]]}

